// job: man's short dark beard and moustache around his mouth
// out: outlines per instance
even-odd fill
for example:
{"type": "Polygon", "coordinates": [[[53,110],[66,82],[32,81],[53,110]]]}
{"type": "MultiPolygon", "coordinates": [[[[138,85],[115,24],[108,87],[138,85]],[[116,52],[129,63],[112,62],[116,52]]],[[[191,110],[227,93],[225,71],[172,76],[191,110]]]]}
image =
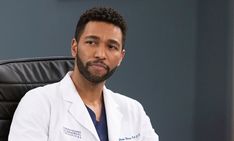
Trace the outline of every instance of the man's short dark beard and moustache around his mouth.
{"type": "Polygon", "coordinates": [[[110,67],[107,66],[105,63],[103,63],[102,60],[89,61],[86,64],[84,64],[84,62],[81,60],[80,56],[78,55],[78,52],[76,54],[76,65],[78,67],[79,72],[84,76],[84,78],[94,84],[104,82],[109,77],[111,77],[115,72],[115,70],[117,69],[117,67],[115,67],[112,70],[110,70],[110,67]],[[98,74],[92,74],[89,71],[89,67],[91,67],[95,63],[101,63],[105,68],[106,73],[101,76],[99,76],[98,74]]]}

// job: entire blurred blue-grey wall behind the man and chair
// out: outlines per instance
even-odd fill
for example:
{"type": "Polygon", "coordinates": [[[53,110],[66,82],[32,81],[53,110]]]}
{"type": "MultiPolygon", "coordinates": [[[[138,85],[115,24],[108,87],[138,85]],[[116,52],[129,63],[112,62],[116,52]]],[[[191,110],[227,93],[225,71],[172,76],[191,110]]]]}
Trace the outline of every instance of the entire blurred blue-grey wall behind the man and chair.
{"type": "Polygon", "coordinates": [[[143,104],[160,141],[230,141],[232,0],[1,0],[0,59],[70,56],[80,14],[103,5],[129,26],[108,87],[143,104]]]}

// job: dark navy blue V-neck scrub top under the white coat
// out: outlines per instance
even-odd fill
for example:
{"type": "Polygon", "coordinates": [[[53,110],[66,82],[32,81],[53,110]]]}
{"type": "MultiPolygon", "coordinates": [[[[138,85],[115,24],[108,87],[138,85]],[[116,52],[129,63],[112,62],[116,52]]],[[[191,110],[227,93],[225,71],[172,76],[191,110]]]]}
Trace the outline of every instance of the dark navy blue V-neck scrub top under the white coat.
{"type": "Polygon", "coordinates": [[[100,121],[97,121],[95,113],[88,106],[86,107],[89,111],[90,117],[92,118],[93,124],[96,128],[100,141],[108,141],[108,130],[107,130],[105,106],[103,105],[102,107],[100,121]]]}

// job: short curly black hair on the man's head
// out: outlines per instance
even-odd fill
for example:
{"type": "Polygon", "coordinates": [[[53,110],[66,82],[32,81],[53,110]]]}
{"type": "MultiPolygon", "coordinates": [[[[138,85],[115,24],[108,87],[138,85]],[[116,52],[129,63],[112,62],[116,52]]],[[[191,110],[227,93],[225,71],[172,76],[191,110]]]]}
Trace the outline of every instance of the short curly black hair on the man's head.
{"type": "Polygon", "coordinates": [[[110,7],[93,7],[85,11],[81,16],[76,26],[74,38],[79,41],[81,34],[84,31],[86,24],[90,21],[101,21],[118,26],[122,31],[123,49],[126,38],[127,24],[124,18],[113,8],[110,7]]]}

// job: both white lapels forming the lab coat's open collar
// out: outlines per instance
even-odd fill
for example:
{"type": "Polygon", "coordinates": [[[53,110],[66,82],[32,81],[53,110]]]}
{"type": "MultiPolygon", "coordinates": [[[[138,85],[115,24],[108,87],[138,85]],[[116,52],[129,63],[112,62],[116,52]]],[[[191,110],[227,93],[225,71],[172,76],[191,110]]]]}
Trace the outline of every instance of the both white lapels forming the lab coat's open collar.
{"type": "MultiPolygon", "coordinates": [[[[74,119],[89,130],[97,140],[99,140],[95,126],[92,119],[79,96],[76,87],[70,77],[71,72],[67,73],[64,79],[61,81],[61,91],[63,92],[63,98],[65,101],[70,102],[71,106],[68,112],[74,117],[74,119]]],[[[122,122],[122,113],[119,110],[119,105],[113,98],[114,93],[108,90],[105,86],[103,88],[103,97],[106,110],[106,119],[108,126],[108,137],[110,141],[119,140],[119,133],[122,122]]]]}

